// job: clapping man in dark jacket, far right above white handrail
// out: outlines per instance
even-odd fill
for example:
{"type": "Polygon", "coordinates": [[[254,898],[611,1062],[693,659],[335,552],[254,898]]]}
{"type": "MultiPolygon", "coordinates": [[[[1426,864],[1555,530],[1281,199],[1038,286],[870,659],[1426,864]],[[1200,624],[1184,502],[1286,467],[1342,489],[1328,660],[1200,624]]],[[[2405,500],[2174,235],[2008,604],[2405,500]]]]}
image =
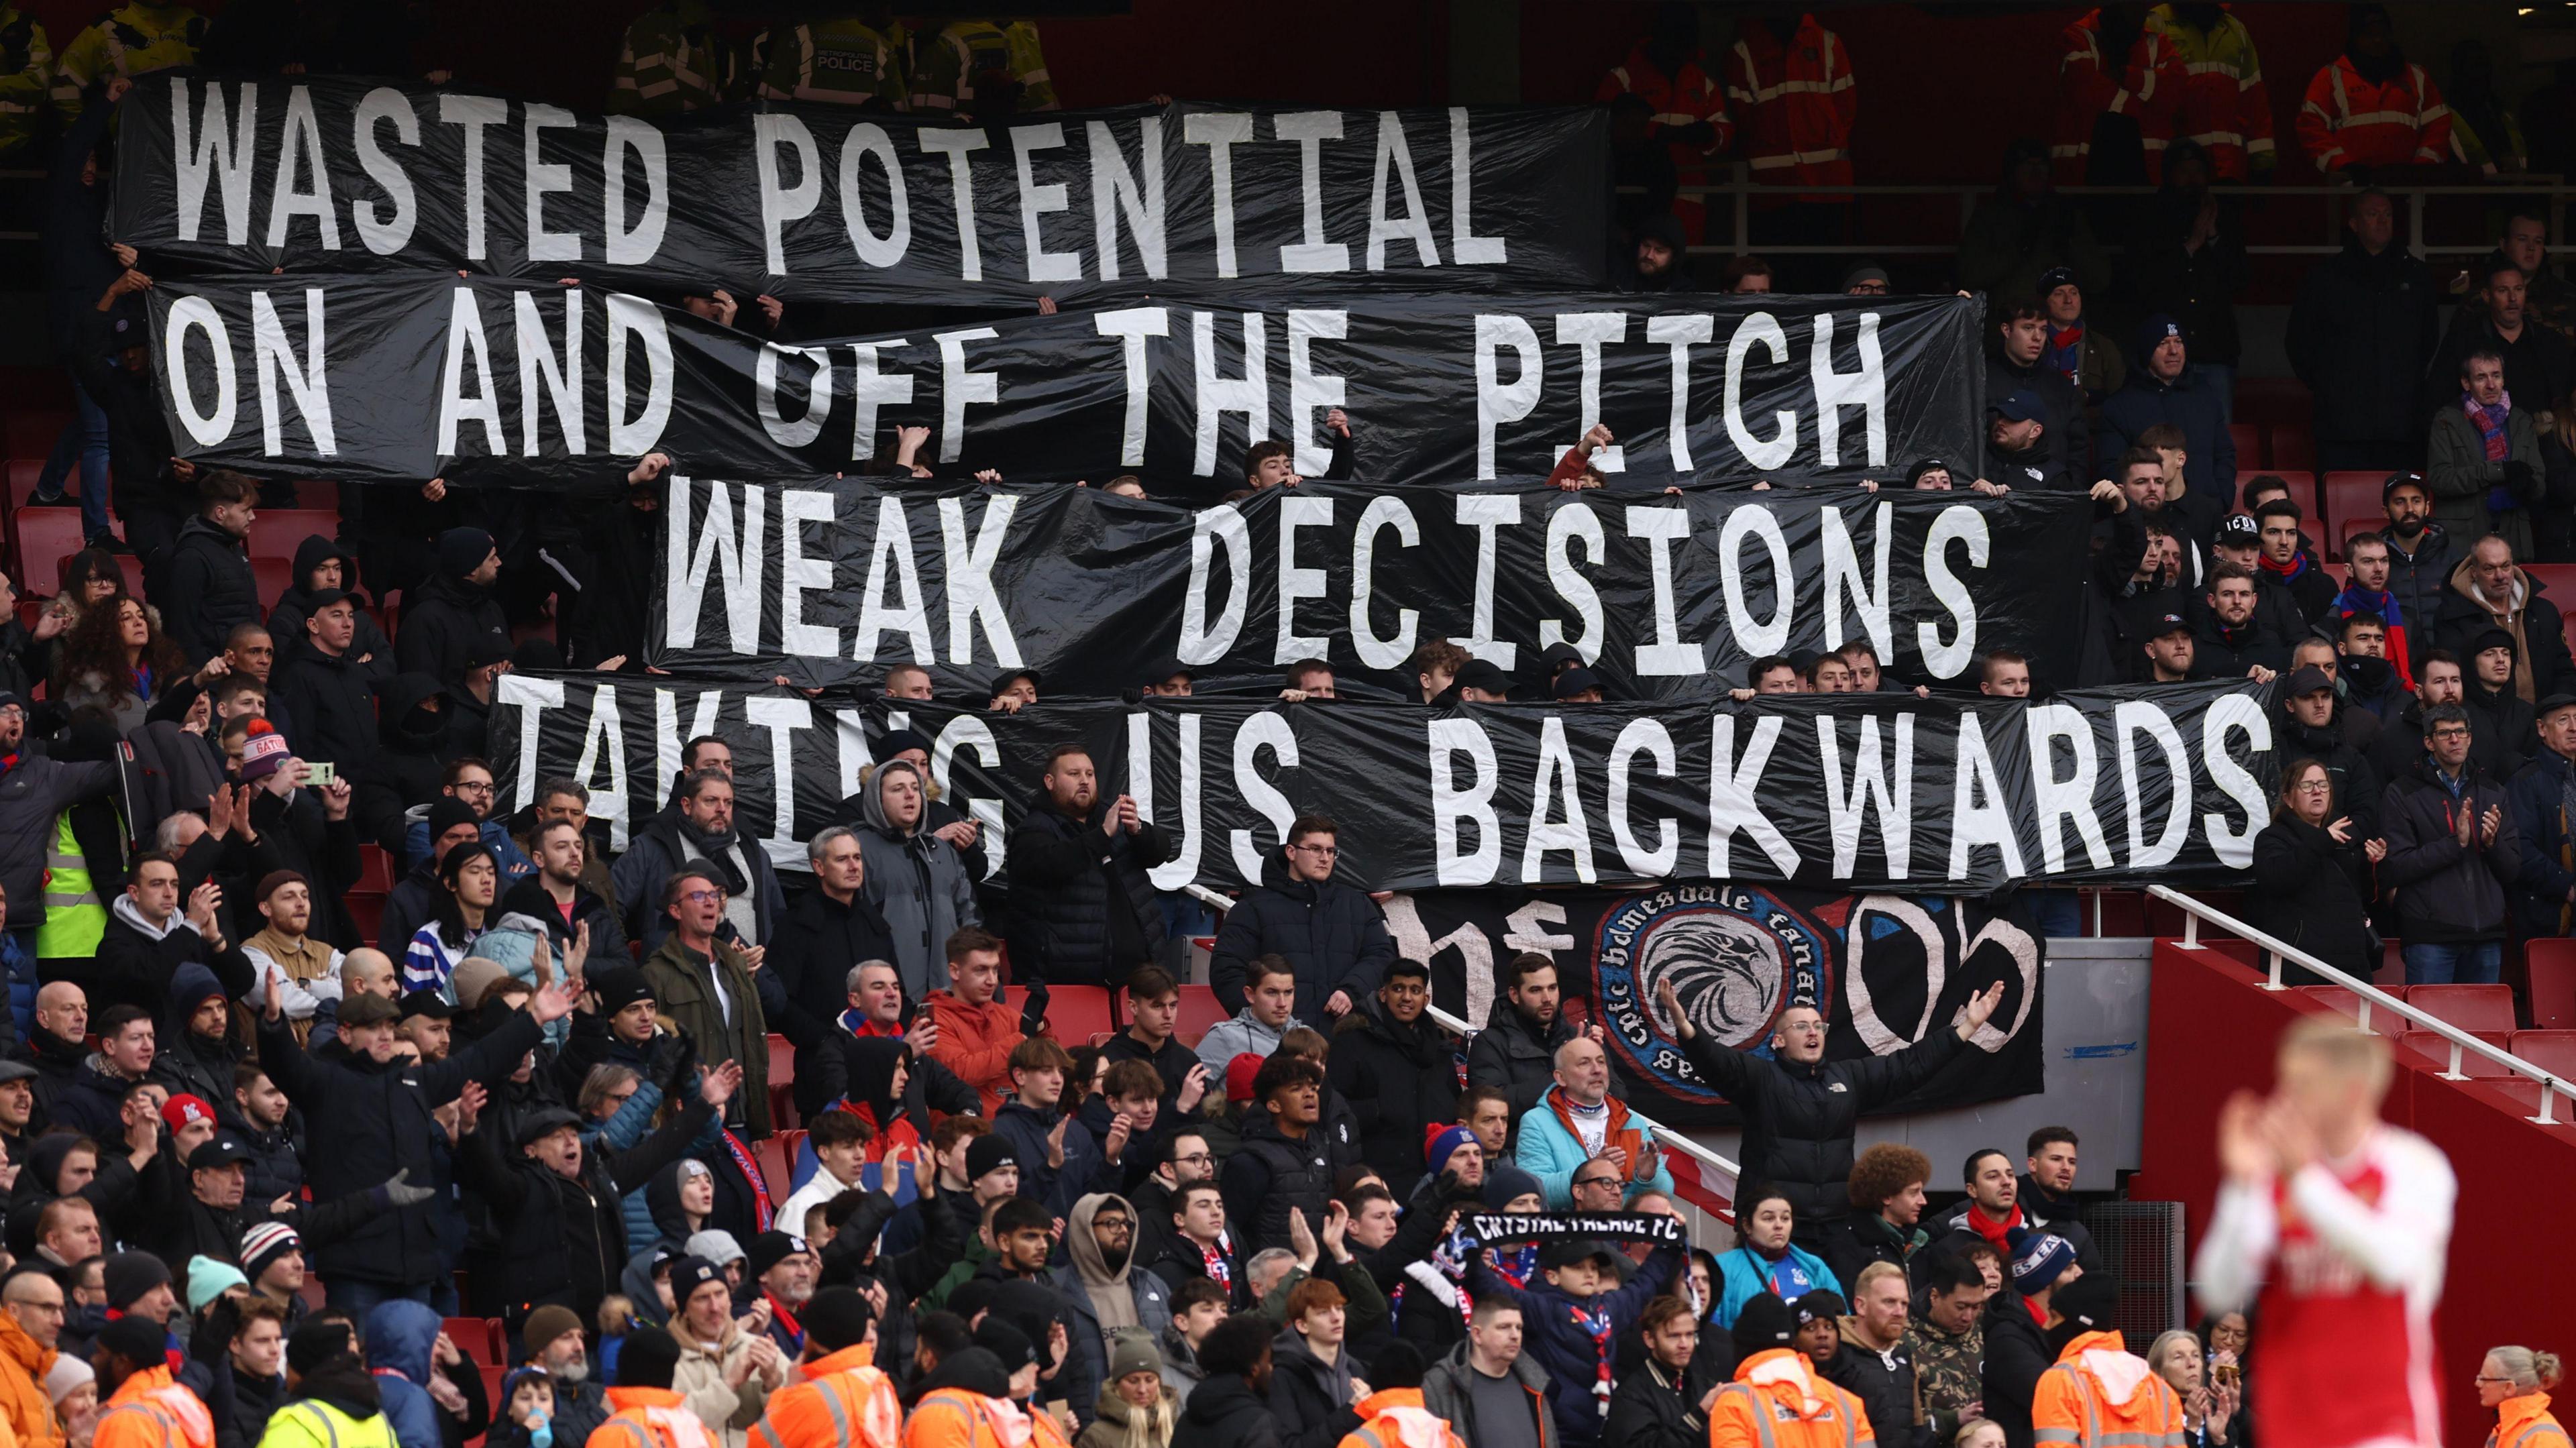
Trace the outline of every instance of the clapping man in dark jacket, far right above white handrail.
{"type": "Polygon", "coordinates": [[[2406,984],[2494,984],[2504,971],[2504,886],[2522,876],[2522,830],[2470,737],[2468,709],[2427,709],[2424,757],[2380,796],[2378,884],[2398,897],[2406,984]]]}

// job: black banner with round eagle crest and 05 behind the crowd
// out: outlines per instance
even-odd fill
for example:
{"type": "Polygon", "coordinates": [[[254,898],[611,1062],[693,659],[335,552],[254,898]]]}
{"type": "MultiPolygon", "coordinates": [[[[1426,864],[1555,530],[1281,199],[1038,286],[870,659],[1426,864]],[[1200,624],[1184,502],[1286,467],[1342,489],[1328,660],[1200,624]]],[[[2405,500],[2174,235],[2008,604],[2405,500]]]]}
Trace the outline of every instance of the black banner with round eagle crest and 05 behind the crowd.
{"type": "MultiPolygon", "coordinates": [[[[1569,997],[1602,1025],[1628,1105],[1664,1126],[1734,1126],[1734,1108],[1682,1054],[1656,987],[1731,1051],[1770,1054],[1790,1005],[1824,1013],[1824,1059],[1888,1056],[1950,1031],[1976,992],[2002,984],[1986,1025],[1932,1080],[1878,1113],[1940,1110],[2043,1087],[2040,933],[2027,907],[1973,897],[1852,894],[1744,881],[1633,891],[1412,891],[1386,902],[1396,951],[1432,966],[1432,1000],[1484,1025],[1497,966],[1522,951],[1556,958],[1569,997]]],[[[1510,1002],[1499,1002],[1510,1010],[1510,1002]]],[[[1700,1201],[1685,1170],[1674,1177],[1700,1201]]]]}

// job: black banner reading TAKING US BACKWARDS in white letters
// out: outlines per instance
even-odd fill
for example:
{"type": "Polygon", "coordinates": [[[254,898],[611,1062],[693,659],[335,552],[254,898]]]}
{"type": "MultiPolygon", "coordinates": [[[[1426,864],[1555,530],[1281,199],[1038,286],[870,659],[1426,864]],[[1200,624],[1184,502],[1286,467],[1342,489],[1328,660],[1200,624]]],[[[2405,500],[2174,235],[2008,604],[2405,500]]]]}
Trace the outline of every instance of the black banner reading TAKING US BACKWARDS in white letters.
{"type": "MultiPolygon", "coordinates": [[[[1046,755],[1082,742],[1103,791],[1180,835],[1154,871],[1257,881],[1298,814],[1340,822],[1370,889],[1667,879],[1986,894],[2009,881],[2236,879],[2272,809],[2272,724],[2246,680],[2050,701],[1904,693],[1723,706],[1221,703],[1157,698],[974,714],[683,678],[510,675],[492,757],[515,804],[541,776],[592,788],[623,848],[662,806],[680,739],[734,745],[737,830],[799,840],[858,791],[889,727],[1007,832],[1046,755]],[[902,724],[896,724],[902,721],[902,724]]],[[[987,840],[1002,871],[1005,840],[987,840]]]]}

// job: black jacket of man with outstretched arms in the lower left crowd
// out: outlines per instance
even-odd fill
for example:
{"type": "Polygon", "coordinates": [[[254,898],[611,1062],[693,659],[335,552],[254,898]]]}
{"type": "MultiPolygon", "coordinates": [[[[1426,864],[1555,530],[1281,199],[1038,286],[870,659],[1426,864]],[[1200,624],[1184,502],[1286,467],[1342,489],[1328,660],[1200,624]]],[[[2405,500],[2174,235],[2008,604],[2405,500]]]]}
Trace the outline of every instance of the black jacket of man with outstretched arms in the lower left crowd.
{"type": "MultiPolygon", "coordinates": [[[[482,1041],[446,1062],[415,1064],[330,1051],[312,1056],[286,1018],[260,1020],[260,1064],[299,1108],[312,1134],[314,1201],[337,1201],[410,1170],[415,1183],[440,1180],[443,1141],[430,1113],[456,1100],[466,1082],[500,1092],[518,1062],[544,1038],[536,1018],[513,1013],[482,1041]]],[[[562,1242],[556,1244],[562,1250],[562,1242]]],[[[348,1237],[314,1250],[314,1270],[381,1286],[430,1286],[440,1260],[430,1203],[371,1216],[348,1237]]]]}

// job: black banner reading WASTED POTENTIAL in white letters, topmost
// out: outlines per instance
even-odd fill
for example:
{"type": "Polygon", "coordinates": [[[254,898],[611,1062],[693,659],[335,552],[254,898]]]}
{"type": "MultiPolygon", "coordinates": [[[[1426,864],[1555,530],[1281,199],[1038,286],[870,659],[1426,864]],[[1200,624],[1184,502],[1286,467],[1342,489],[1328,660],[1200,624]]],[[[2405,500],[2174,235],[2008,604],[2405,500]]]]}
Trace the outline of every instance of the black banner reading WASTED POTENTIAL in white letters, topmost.
{"type": "Polygon", "coordinates": [[[118,108],[116,160],[116,240],[204,271],[1020,307],[1234,278],[1597,286],[1607,119],[1175,103],[979,126],[762,103],[644,121],[162,70],[118,108]]]}

